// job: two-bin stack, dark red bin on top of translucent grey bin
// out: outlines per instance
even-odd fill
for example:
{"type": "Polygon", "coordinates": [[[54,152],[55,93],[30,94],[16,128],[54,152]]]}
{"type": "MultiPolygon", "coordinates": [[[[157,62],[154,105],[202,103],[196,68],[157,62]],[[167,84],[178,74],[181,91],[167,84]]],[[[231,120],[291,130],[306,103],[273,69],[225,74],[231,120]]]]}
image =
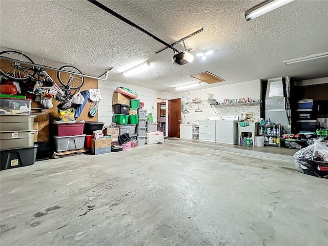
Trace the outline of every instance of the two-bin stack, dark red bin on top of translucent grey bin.
{"type": "Polygon", "coordinates": [[[83,134],[84,120],[53,121],[57,152],[83,149],[86,134],[83,134]]]}

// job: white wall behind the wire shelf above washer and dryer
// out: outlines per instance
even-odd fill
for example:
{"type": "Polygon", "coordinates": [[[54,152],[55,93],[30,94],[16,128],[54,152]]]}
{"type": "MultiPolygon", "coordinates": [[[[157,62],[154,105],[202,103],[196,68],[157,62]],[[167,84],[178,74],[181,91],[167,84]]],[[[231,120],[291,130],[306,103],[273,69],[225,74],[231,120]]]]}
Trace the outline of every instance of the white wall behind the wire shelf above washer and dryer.
{"type": "MultiPolygon", "coordinates": [[[[175,94],[175,98],[181,97],[182,102],[186,100],[187,97],[193,99],[195,97],[200,97],[201,100],[208,99],[207,93],[213,94],[213,99],[216,99],[219,103],[223,102],[224,98],[238,98],[238,97],[245,97],[247,96],[252,98],[260,98],[261,97],[261,81],[260,79],[246,81],[237,84],[225,85],[225,86],[218,86],[209,89],[201,89],[200,96],[199,90],[184,92],[175,94]]],[[[216,112],[213,111],[209,102],[204,103],[204,107],[200,106],[200,109],[203,112],[194,112],[194,109],[197,107],[193,106],[193,110],[191,110],[190,106],[188,107],[189,114],[182,114],[182,117],[186,117],[186,124],[190,122],[193,124],[195,120],[203,120],[207,116],[217,116],[217,115],[244,115],[241,107],[236,107],[236,111],[234,111],[233,107],[228,108],[228,113],[224,110],[223,107],[215,108],[216,112]]],[[[260,109],[260,107],[259,107],[260,109]]],[[[256,106],[244,107],[245,112],[254,112],[255,113],[255,120],[260,117],[260,112],[258,111],[256,106]]]]}

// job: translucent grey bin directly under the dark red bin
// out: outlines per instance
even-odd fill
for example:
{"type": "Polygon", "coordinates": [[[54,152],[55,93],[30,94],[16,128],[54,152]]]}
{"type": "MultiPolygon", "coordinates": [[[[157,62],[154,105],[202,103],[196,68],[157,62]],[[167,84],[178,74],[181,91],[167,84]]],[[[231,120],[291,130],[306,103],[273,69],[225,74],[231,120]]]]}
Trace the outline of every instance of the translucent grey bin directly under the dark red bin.
{"type": "Polygon", "coordinates": [[[86,134],[78,136],[54,137],[58,152],[67,150],[79,150],[84,147],[86,134]]]}

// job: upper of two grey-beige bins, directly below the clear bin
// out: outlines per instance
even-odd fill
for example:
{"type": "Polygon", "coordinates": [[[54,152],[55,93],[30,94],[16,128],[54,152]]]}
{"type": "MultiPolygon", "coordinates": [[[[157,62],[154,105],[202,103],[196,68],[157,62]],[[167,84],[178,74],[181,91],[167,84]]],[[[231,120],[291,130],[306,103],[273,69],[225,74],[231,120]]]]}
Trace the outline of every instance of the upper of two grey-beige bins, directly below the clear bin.
{"type": "Polygon", "coordinates": [[[0,131],[32,131],[36,115],[2,115],[0,131]]]}

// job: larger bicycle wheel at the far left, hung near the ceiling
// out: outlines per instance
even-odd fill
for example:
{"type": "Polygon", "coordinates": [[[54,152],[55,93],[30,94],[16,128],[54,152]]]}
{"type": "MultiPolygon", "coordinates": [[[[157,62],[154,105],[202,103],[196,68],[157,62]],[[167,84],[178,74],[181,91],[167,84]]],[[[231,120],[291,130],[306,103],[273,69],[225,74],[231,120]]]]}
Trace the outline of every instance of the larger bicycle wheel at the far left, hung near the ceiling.
{"type": "Polygon", "coordinates": [[[34,76],[34,66],[7,60],[5,58],[11,58],[20,61],[26,61],[28,63],[33,63],[33,60],[30,57],[20,52],[11,50],[2,51],[0,53],[0,72],[4,76],[14,80],[26,80],[30,76],[34,76]]]}

